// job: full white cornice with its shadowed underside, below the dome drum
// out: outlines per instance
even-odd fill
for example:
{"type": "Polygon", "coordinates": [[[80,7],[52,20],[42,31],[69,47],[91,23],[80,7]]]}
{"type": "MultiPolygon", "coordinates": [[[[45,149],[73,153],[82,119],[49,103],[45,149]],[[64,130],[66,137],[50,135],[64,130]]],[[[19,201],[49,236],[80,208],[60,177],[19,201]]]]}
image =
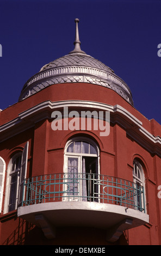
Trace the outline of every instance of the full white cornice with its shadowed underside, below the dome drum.
{"type": "MultiPolygon", "coordinates": [[[[63,109],[69,107],[69,109],[97,109],[98,111],[110,111],[110,121],[112,123],[119,123],[122,125],[129,135],[134,137],[138,141],[139,136],[141,137],[141,144],[145,138],[146,144],[150,143],[154,151],[161,155],[161,138],[159,136],[153,136],[144,127],[143,123],[136,118],[133,114],[128,112],[125,108],[120,105],[107,105],[105,103],[94,102],[94,101],[82,101],[82,100],[69,100],[69,101],[44,101],[38,105],[27,109],[26,111],[18,114],[18,117],[9,121],[8,123],[0,126],[0,141],[4,141],[9,137],[13,137],[15,134],[20,133],[33,127],[35,123],[45,118],[51,118],[51,113],[55,109],[63,109]],[[131,132],[133,130],[133,132],[131,132]]],[[[148,148],[150,150],[150,148],[148,148]]],[[[151,151],[151,150],[150,150],[151,151]]]]}

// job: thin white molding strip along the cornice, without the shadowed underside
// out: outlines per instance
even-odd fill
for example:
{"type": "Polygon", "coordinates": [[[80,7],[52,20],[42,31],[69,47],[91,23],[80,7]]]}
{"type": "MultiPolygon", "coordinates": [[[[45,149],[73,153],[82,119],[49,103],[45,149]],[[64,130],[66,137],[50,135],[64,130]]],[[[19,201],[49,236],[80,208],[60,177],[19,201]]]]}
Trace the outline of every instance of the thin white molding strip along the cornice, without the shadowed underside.
{"type": "Polygon", "coordinates": [[[81,100],[70,100],[70,101],[45,101],[42,102],[32,108],[29,108],[27,111],[24,111],[20,114],[18,114],[18,118],[15,118],[8,123],[0,126],[0,133],[4,132],[8,129],[11,129],[13,126],[20,124],[22,120],[25,121],[25,119],[28,119],[31,117],[31,115],[38,114],[38,112],[42,113],[42,110],[54,110],[57,108],[64,108],[64,107],[82,107],[82,108],[95,108],[95,109],[101,109],[102,111],[110,111],[112,113],[120,113],[123,115],[123,117],[126,117],[126,119],[130,120],[133,125],[138,127],[138,130],[146,137],[148,138],[151,143],[158,143],[161,146],[161,138],[159,136],[153,136],[150,132],[148,132],[143,127],[143,123],[136,118],[133,114],[128,112],[125,108],[121,107],[120,105],[107,105],[105,103],[100,102],[94,102],[94,101],[81,101],[81,100]]]}

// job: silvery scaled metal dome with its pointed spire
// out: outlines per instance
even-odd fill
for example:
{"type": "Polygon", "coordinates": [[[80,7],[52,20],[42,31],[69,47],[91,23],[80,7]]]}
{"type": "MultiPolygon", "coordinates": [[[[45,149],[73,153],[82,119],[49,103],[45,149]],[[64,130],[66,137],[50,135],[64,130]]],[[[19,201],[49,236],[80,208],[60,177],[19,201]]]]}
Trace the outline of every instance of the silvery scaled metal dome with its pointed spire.
{"type": "Polygon", "coordinates": [[[58,83],[92,83],[114,90],[131,105],[133,99],[127,84],[110,69],[80,49],[78,19],[76,22],[75,48],[69,54],[42,66],[23,86],[19,100],[58,83]]]}

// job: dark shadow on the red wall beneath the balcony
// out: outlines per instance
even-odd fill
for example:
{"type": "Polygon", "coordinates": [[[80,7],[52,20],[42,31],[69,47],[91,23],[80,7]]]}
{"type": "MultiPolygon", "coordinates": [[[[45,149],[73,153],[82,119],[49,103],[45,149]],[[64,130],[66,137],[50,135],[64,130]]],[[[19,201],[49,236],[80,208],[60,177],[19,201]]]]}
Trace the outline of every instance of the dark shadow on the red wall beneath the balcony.
{"type": "Polygon", "coordinates": [[[106,241],[106,230],[96,228],[59,227],[55,239],[49,240],[39,227],[20,218],[18,227],[2,245],[128,245],[128,230],[115,243],[106,241]]]}

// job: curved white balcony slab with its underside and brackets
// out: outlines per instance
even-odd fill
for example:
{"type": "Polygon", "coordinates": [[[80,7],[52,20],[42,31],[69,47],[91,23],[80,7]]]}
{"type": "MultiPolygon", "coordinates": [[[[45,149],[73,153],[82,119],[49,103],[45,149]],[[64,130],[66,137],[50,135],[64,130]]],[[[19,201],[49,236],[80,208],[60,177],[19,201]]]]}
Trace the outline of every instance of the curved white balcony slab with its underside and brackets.
{"type": "Polygon", "coordinates": [[[41,227],[50,239],[55,237],[56,227],[75,226],[106,229],[108,235],[112,233],[108,239],[112,242],[112,237],[116,239],[118,232],[122,234],[123,230],[149,221],[147,214],[124,206],[77,201],[21,206],[17,216],[41,227]]]}

